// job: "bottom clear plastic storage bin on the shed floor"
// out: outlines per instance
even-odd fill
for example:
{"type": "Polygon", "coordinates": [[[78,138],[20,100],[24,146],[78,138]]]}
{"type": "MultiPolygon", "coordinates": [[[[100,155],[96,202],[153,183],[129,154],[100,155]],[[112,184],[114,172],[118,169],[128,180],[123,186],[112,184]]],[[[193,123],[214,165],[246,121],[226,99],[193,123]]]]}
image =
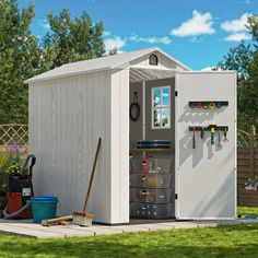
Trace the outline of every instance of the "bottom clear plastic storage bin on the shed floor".
{"type": "Polygon", "coordinates": [[[141,219],[168,219],[172,212],[172,203],[149,204],[131,202],[131,215],[141,219]]]}

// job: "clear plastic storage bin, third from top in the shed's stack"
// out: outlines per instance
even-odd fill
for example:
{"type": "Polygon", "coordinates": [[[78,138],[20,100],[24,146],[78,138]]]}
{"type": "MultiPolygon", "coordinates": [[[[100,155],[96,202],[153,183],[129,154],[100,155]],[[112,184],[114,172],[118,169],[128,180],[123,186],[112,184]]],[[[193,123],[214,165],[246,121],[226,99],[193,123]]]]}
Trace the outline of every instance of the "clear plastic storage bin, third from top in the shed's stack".
{"type": "Polygon", "coordinates": [[[130,198],[136,202],[167,203],[171,201],[172,189],[131,188],[130,198]]]}

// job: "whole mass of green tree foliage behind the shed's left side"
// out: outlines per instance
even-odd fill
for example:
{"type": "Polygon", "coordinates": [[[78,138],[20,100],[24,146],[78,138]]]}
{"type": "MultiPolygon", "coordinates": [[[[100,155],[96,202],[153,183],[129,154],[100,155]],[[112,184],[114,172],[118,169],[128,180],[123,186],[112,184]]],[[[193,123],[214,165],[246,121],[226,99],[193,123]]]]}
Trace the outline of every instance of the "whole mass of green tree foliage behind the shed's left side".
{"type": "Polygon", "coordinates": [[[72,20],[68,10],[48,15],[50,31],[43,43],[30,26],[31,3],[22,10],[17,0],[0,1],[0,124],[27,122],[28,91],[24,81],[63,63],[104,54],[102,22],[93,24],[83,12],[72,20]]]}

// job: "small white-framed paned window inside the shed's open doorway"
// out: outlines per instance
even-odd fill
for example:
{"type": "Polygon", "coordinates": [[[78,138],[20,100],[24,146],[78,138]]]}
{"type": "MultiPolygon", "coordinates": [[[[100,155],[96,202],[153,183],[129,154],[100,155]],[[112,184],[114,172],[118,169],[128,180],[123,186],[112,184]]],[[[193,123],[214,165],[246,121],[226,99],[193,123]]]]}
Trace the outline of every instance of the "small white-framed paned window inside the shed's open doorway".
{"type": "Polygon", "coordinates": [[[171,128],[171,86],[152,89],[152,129],[171,128]]]}

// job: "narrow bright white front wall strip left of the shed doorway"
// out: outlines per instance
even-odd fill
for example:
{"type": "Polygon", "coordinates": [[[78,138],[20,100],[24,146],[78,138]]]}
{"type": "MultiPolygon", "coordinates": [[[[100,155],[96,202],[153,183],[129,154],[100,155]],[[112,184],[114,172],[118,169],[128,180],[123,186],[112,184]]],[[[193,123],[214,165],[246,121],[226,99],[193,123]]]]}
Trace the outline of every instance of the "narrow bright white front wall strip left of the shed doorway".
{"type": "Polygon", "coordinates": [[[112,74],[112,221],[129,222],[129,70],[112,74]]]}

